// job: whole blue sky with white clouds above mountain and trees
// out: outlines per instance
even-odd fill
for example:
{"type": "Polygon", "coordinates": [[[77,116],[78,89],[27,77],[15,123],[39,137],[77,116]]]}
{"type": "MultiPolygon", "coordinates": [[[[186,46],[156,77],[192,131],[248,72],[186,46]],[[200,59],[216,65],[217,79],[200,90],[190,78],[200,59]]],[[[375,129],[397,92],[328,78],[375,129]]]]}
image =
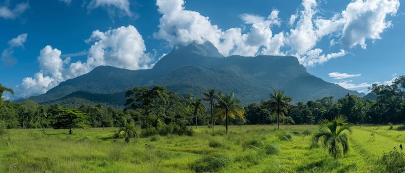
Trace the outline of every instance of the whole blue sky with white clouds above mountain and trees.
{"type": "Polygon", "coordinates": [[[225,56],[293,55],[325,81],[367,92],[405,74],[399,0],[0,0],[0,84],[46,92],[98,65],[152,68],[173,45],[225,56]]]}

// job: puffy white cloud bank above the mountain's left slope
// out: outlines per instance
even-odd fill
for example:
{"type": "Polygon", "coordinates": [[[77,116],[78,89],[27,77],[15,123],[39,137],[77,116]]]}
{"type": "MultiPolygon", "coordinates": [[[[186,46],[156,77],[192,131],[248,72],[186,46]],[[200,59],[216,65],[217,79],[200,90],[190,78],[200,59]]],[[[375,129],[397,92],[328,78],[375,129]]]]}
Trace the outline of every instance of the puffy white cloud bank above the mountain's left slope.
{"type": "Polygon", "coordinates": [[[86,74],[100,65],[110,65],[130,70],[149,68],[153,59],[145,53],[142,36],[132,25],[110,29],[105,32],[93,31],[86,43],[92,43],[86,62],[70,63],[70,57],[62,56],[62,51],[45,46],[37,57],[40,71],[34,77],[26,77],[17,86],[18,97],[42,94],[59,83],[86,74]]]}

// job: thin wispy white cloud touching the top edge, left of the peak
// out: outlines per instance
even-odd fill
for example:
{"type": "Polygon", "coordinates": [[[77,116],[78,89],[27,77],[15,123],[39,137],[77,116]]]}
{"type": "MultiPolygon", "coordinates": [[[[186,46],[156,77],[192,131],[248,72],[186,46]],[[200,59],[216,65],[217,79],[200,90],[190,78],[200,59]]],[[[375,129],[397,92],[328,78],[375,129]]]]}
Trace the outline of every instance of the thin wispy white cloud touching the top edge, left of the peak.
{"type": "Polygon", "coordinates": [[[110,12],[112,11],[111,7],[115,7],[120,9],[125,15],[132,15],[129,0],[91,0],[87,6],[88,9],[94,9],[98,7],[106,7],[110,12]]]}

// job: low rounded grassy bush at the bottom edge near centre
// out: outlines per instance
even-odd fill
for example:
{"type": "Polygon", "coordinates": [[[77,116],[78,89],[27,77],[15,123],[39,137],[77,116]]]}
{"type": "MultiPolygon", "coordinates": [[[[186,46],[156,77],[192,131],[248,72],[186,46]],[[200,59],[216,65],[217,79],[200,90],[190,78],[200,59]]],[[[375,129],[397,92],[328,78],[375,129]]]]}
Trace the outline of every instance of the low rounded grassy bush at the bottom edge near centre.
{"type": "Polygon", "coordinates": [[[191,165],[191,169],[197,173],[218,172],[232,164],[232,158],[225,154],[213,153],[203,156],[191,165]]]}

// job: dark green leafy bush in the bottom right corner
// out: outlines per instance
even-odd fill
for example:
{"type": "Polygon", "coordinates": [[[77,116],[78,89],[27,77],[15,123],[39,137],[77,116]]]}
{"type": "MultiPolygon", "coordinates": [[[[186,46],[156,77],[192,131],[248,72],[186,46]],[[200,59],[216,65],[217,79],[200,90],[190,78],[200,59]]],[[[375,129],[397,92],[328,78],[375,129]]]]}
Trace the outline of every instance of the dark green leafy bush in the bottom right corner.
{"type": "Polygon", "coordinates": [[[405,171],[405,157],[403,153],[391,151],[383,154],[380,164],[388,173],[403,173],[405,171]]]}

